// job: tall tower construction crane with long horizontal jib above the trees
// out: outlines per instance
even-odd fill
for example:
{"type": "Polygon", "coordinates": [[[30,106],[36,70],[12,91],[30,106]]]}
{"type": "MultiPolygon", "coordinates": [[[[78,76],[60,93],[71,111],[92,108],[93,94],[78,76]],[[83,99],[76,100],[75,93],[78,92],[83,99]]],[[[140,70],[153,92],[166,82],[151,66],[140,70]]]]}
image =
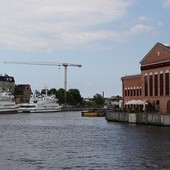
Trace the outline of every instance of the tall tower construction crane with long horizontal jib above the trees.
{"type": "Polygon", "coordinates": [[[80,64],[57,63],[57,62],[19,62],[19,61],[5,61],[4,64],[27,64],[27,65],[43,65],[43,66],[63,66],[64,67],[64,101],[67,103],[67,67],[82,67],[80,64]]]}

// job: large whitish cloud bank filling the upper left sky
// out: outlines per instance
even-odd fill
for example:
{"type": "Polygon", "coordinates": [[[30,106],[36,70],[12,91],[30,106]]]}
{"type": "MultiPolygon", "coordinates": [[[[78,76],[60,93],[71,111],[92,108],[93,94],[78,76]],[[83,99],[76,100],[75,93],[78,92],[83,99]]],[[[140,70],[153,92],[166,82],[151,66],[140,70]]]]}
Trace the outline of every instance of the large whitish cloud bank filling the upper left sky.
{"type": "Polygon", "coordinates": [[[129,31],[114,28],[132,5],[133,0],[1,0],[0,45],[50,51],[96,41],[124,42],[151,30],[144,24],[129,31]]]}

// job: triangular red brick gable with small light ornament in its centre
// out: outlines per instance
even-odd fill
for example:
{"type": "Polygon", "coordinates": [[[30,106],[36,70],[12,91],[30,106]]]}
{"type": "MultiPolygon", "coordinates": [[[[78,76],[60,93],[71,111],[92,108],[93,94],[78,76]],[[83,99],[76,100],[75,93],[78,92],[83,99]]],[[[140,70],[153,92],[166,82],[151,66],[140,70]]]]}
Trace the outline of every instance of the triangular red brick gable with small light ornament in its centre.
{"type": "Polygon", "coordinates": [[[170,61],[170,46],[156,43],[155,46],[140,61],[141,66],[170,61]]]}

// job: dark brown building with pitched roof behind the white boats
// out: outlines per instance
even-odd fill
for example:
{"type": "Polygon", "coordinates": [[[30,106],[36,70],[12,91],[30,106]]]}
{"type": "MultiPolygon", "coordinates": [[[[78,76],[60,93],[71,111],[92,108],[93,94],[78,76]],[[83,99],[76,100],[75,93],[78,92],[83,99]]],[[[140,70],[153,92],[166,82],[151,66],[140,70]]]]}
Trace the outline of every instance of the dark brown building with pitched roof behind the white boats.
{"type": "Polygon", "coordinates": [[[32,94],[31,87],[29,84],[19,84],[15,86],[15,102],[28,103],[32,94]]]}

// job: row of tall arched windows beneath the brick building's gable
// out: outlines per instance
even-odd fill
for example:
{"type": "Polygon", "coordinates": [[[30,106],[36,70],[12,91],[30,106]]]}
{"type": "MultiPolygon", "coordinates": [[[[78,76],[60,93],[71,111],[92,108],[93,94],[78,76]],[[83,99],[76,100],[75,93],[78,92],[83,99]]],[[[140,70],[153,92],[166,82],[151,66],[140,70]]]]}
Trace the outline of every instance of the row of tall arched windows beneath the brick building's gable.
{"type": "Polygon", "coordinates": [[[145,96],[168,96],[170,94],[169,72],[160,72],[160,74],[145,75],[144,91],[145,96]]]}

